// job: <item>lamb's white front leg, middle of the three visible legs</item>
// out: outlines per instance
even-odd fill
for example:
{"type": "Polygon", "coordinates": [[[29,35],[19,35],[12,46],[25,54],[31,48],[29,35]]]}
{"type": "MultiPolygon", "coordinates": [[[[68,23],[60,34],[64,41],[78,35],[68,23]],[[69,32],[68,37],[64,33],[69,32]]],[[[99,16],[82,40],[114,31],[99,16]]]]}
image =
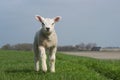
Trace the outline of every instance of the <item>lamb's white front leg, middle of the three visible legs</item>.
{"type": "Polygon", "coordinates": [[[43,46],[40,46],[39,50],[40,50],[40,56],[41,56],[41,62],[42,62],[42,70],[43,72],[46,72],[47,71],[47,64],[46,64],[47,56],[45,53],[45,48],[43,46]]]}

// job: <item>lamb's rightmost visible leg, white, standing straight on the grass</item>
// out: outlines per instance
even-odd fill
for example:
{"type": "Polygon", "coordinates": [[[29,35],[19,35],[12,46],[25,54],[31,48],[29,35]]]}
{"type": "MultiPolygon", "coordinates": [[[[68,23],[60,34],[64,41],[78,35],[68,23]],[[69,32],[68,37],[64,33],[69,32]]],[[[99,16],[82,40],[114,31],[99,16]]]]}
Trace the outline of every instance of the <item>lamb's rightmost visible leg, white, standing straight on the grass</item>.
{"type": "Polygon", "coordinates": [[[55,72],[55,59],[56,59],[55,55],[56,55],[56,50],[57,50],[56,47],[50,49],[50,56],[49,56],[49,58],[50,58],[50,71],[51,72],[55,72]]]}

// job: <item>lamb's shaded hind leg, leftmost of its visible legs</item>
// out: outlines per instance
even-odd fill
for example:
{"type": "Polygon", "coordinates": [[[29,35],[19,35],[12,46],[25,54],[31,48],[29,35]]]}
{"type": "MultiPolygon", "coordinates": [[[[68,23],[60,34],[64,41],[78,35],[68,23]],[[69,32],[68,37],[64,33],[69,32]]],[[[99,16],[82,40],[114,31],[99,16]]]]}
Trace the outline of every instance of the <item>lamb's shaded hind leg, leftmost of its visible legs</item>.
{"type": "Polygon", "coordinates": [[[35,71],[39,71],[39,59],[40,59],[40,53],[38,51],[38,47],[34,46],[35,71]]]}

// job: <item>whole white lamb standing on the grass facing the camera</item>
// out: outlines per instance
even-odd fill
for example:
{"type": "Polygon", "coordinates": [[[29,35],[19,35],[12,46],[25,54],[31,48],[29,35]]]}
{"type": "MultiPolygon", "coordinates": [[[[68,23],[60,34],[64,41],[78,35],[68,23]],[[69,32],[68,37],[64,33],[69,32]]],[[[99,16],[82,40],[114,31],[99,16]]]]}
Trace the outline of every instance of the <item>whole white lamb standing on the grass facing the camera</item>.
{"type": "Polygon", "coordinates": [[[35,16],[35,18],[40,21],[42,25],[42,28],[36,33],[33,43],[35,70],[39,71],[39,59],[41,58],[42,71],[47,71],[47,56],[45,50],[48,49],[50,59],[50,71],[55,72],[57,35],[54,29],[54,25],[61,19],[61,17],[57,16],[53,19],[50,19],[43,18],[41,16],[35,16]]]}

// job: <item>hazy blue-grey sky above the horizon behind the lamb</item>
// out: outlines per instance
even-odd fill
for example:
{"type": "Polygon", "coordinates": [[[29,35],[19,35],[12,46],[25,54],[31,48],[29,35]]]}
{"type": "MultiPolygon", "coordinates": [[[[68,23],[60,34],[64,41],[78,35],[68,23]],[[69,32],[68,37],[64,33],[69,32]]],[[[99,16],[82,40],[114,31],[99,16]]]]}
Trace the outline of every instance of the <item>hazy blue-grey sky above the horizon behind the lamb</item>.
{"type": "Polygon", "coordinates": [[[120,47],[120,0],[1,0],[0,46],[32,43],[40,29],[37,14],[62,16],[55,26],[59,45],[120,47]]]}

